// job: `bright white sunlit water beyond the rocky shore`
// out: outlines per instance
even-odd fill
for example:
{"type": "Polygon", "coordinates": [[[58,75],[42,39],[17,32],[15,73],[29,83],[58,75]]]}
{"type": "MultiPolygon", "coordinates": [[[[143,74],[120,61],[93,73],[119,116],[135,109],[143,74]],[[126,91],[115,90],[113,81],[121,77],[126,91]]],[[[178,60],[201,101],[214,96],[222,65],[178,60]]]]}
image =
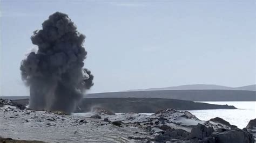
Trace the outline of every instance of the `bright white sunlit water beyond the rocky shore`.
{"type": "MultiPolygon", "coordinates": [[[[231,125],[244,128],[251,119],[256,118],[256,102],[204,102],[210,104],[233,105],[238,109],[214,109],[214,110],[184,110],[189,111],[200,120],[210,120],[220,117],[228,121],[231,125]]],[[[116,113],[117,115],[120,113],[116,113]]],[[[152,115],[153,113],[141,113],[152,115]]],[[[74,113],[74,115],[90,117],[92,113],[74,113]]]]}

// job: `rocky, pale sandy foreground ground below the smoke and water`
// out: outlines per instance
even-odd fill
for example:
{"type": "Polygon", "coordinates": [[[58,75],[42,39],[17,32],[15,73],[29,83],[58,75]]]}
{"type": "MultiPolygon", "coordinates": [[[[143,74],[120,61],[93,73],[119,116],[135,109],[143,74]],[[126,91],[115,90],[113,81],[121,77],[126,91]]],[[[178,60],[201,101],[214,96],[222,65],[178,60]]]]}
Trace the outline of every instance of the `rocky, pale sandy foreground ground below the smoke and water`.
{"type": "Polygon", "coordinates": [[[218,117],[202,121],[190,112],[173,109],[153,115],[108,115],[112,113],[99,110],[82,117],[32,111],[8,100],[0,100],[1,105],[0,142],[254,142],[256,133],[256,119],[241,130],[218,117]]]}

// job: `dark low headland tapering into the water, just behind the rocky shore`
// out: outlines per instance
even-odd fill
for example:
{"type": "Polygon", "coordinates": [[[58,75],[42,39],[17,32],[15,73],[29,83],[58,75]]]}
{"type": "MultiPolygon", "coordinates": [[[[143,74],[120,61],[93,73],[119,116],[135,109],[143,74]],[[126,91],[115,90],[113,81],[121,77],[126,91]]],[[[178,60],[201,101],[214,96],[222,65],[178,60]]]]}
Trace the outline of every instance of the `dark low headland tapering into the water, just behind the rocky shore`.
{"type": "MultiPolygon", "coordinates": [[[[14,102],[22,105],[28,105],[29,99],[18,99],[14,100],[14,102]]],[[[84,98],[75,112],[89,112],[92,111],[93,108],[109,110],[115,113],[154,113],[166,108],[176,110],[236,109],[234,106],[196,103],[177,99],[84,98]]]]}

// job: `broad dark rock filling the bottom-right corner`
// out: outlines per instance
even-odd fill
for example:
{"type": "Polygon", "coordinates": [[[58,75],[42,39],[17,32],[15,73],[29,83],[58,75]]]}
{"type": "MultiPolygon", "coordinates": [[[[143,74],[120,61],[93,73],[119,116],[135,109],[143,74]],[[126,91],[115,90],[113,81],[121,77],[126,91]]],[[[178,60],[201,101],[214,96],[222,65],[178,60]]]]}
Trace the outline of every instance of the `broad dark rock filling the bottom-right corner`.
{"type": "Polygon", "coordinates": [[[225,131],[222,133],[214,133],[213,137],[217,143],[225,143],[225,142],[232,142],[232,143],[254,143],[254,138],[251,133],[245,130],[240,130],[237,128],[236,130],[225,131]]]}

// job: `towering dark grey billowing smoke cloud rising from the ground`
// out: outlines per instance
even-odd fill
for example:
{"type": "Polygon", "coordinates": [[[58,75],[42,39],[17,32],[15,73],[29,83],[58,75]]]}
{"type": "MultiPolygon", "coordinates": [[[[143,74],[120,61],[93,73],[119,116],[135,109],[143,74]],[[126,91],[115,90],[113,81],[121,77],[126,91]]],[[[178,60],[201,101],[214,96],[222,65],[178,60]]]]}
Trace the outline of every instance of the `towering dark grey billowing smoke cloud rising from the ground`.
{"type": "Polygon", "coordinates": [[[85,35],[77,31],[68,15],[53,13],[33,32],[37,52],[21,62],[22,80],[30,87],[29,108],[71,113],[93,85],[85,68],[85,35]]]}

